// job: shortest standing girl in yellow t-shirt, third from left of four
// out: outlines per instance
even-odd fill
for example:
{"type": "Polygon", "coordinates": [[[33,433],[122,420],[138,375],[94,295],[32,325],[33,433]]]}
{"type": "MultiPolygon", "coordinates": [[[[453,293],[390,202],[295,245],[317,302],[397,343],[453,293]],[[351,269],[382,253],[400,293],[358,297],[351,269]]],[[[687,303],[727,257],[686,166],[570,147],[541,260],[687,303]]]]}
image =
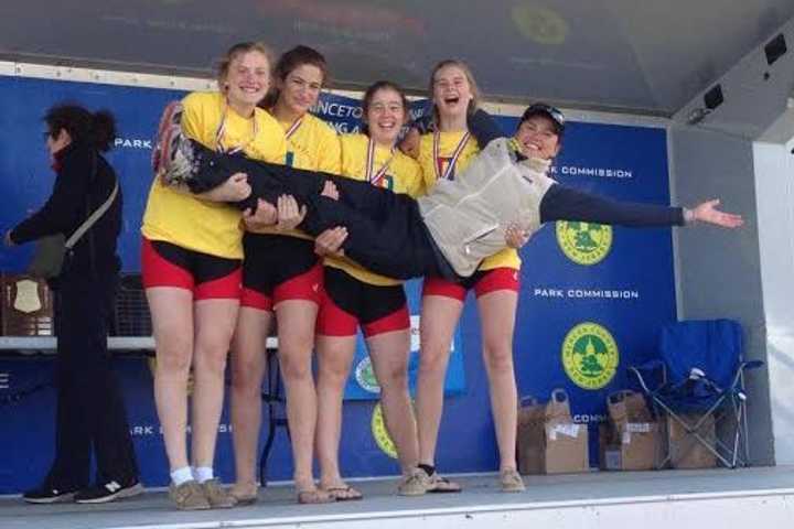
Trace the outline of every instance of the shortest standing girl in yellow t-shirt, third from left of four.
{"type": "MultiPolygon", "coordinates": [[[[418,196],[423,184],[417,162],[395,143],[408,117],[403,90],[389,82],[372,85],[363,98],[365,133],[345,134],[342,175],[418,196]]],[[[318,237],[318,246],[333,250],[344,230],[318,237]],[[334,240],[335,239],[335,240],[334,240]],[[333,244],[331,242],[333,240],[333,244]],[[331,248],[329,248],[331,247],[331,248]]],[[[339,467],[344,386],[361,327],[380,385],[386,424],[404,473],[417,464],[417,436],[408,393],[410,319],[401,281],[371,272],[350,259],[329,255],[325,290],[316,323],[318,431],[321,486],[337,500],[358,499],[361,493],[344,483],[339,467]]]]}

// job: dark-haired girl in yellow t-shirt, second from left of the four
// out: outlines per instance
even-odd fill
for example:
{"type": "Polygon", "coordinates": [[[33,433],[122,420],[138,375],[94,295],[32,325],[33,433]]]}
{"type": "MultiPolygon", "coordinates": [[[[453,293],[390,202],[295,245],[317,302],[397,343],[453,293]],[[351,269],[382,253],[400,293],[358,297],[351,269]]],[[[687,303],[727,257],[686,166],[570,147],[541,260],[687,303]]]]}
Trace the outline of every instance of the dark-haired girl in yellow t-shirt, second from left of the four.
{"type": "MultiPolygon", "coordinates": [[[[279,57],[273,73],[273,88],[260,106],[267,108],[286,131],[287,164],[339,173],[339,137],[333,128],[309,114],[328,79],[325,58],[311,47],[297,46],[279,57]]],[[[243,299],[232,348],[232,425],[237,478],[232,494],[240,503],[251,503],[257,497],[266,339],[277,316],[298,500],[324,503],[332,498],[318,490],[312,475],[318,404],[311,368],[322,263],[314,253],[314,240],[296,230],[260,228],[249,223],[243,246],[243,299]]]]}

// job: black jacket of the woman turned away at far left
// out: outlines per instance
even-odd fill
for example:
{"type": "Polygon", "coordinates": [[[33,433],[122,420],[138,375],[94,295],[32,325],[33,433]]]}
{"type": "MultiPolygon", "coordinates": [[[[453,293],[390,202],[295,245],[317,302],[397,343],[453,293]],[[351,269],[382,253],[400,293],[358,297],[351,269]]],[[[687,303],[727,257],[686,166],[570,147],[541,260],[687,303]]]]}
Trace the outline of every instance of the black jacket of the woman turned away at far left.
{"type": "MultiPolygon", "coordinates": [[[[96,149],[74,142],[58,151],[55,158],[52,195],[41,209],[13,228],[11,240],[14,244],[55,234],[68,238],[112,192],[116,172],[96,149]]],[[[121,188],[105,215],[75,245],[72,257],[64,263],[62,279],[117,273],[120,260],[116,241],[120,230],[121,188]]]]}

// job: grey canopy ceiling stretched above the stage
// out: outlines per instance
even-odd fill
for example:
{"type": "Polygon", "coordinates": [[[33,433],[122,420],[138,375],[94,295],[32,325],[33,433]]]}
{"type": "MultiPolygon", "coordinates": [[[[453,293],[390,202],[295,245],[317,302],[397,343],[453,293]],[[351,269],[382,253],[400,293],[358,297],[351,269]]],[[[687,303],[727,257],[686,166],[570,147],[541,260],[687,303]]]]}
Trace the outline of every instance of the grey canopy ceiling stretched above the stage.
{"type": "Polygon", "coordinates": [[[302,43],[340,87],[423,90],[459,57],[490,99],[673,116],[792,17],[792,0],[9,0],[0,58],[203,76],[235,42],[302,43]]]}

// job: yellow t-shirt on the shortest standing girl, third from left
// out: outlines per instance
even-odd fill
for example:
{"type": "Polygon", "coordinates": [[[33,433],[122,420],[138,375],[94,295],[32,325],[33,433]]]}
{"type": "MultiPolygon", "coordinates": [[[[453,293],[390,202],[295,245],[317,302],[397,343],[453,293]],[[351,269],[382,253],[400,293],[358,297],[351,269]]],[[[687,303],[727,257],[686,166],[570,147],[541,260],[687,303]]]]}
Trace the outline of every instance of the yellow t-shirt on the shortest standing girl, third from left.
{"type": "MultiPolygon", "coordinates": [[[[366,181],[369,138],[365,134],[343,134],[340,141],[342,144],[342,172],[340,174],[348,179],[366,181]]],[[[419,168],[416,160],[406,156],[398,149],[393,154],[390,149],[382,145],[375,147],[374,159],[371,170],[372,175],[377,175],[384,164],[388,162],[388,169],[375,185],[387,187],[395,193],[405,193],[412,197],[425,193],[421,168],[419,168]]],[[[344,270],[358,281],[378,287],[395,285],[403,282],[371,272],[346,258],[326,257],[324,263],[328,267],[344,270]]]]}

